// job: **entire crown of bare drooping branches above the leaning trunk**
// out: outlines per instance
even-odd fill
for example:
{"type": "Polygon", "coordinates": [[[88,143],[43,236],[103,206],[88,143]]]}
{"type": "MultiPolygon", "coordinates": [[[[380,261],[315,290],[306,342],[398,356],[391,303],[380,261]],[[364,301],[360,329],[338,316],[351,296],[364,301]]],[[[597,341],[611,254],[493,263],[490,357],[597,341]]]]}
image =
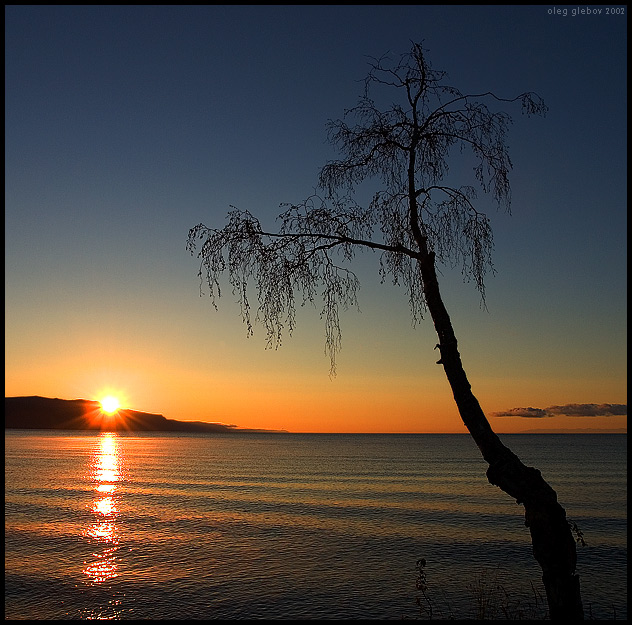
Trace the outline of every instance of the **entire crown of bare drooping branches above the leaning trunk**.
{"type": "Polygon", "coordinates": [[[248,333],[253,321],[260,321],[268,345],[278,347],[283,332],[294,327],[296,293],[301,304],[322,298],[332,371],[340,346],[334,339],[340,330],[338,309],[356,302],[357,277],[347,265],[358,251],[381,253],[381,280],[407,290],[413,324],[427,308],[420,262],[429,255],[432,263],[459,267],[485,305],[485,277],[494,272],[490,221],[475,208],[474,185],[454,188],[442,182],[448,160],[453,148],[468,148],[474,158],[472,182],[509,211],[511,160],[505,136],[511,119],[484,101],[520,102],[529,115],[544,114],[546,106],[532,93],[511,99],[490,91],[463,94],[446,77],[431,67],[419,44],[395,61],[372,58],[357,105],[344,119],[328,122],[329,140],[342,158],[320,171],[324,197],[314,193],[299,204],[282,205],[278,232],[264,230],[248,211],[237,209],[222,229],[193,228],[188,247],[193,253],[203,241],[199,275],[213,305],[227,271],[248,333]],[[402,97],[378,106],[374,89],[402,97]],[[369,178],[381,180],[383,188],[362,207],[353,193],[369,178]],[[258,304],[251,314],[248,290],[253,285],[258,304]]]}

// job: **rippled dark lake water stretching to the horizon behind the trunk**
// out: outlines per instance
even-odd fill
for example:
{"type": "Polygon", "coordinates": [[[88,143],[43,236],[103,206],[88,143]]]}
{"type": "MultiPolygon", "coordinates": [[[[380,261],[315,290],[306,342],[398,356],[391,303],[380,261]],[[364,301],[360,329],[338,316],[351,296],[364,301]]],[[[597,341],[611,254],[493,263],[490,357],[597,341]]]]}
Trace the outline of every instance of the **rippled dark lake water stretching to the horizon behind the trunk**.
{"type": "MultiPolygon", "coordinates": [[[[627,618],[626,437],[502,438],[584,533],[587,616],[627,618]]],[[[5,445],[8,619],[415,618],[420,558],[434,618],[476,616],[494,576],[505,604],[545,608],[523,508],[467,435],[6,430],[5,445]]]]}

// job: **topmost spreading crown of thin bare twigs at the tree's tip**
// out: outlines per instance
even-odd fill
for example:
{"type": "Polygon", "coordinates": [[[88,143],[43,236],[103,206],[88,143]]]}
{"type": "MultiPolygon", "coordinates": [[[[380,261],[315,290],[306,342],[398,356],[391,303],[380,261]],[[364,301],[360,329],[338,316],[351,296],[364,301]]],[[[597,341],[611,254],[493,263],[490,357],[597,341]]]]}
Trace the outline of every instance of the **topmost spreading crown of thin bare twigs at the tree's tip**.
{"type": "Polygon", "coordinates": [[[390,64],[386,57],[374,60],[365,93],[358,105],[345,113],[345,120],[330,121],[329,138],[343,158],[327,163],[320,172],[320,185],[332,192],[353,186],[367,177],[379,177],[391,192],[402,189],[402,177],[410,150],[415,150],[415,175],[420,187],[439,183],[448,172],[453,146],[471,149],[478,161],[476,182],[492,192],[498,205],[510,208],[508,172],[511,161],[505,143],[511,119],[490,111],[485,100],[520,102],[524,114],[545,115],[547,107],[535,93],[503,98],[491,91],[463,94],[445,83],[446,74],[433,70],[420,45],[390,64]],[[395,87],[405,92],[407,107],[393,104],[384,110],[372,98],[371,87],[395,87]]]}

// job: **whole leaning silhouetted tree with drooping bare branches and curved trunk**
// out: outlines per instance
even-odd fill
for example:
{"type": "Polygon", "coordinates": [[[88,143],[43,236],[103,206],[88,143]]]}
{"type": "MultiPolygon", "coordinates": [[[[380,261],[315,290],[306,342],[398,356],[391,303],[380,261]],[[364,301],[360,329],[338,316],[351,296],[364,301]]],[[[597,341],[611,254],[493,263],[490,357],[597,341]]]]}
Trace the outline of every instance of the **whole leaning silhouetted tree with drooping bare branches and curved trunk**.
{"type": "Polygon", "coordinates": [[[416,43],[398,60],[372,59],[370,68],[358,104],[328,124],[330,143],[341,158],[321,169],[320,194],[282,204],[277,232],[265,231],[251,213],[232,207],[224,228],[192,228],[187,247],[195,253],[202,241],[199,276],[214,306],[221,295],[220,277],[228,271],[250,334],[248,293],[254,281],[255,319],[264,324],[269,345],[280,345],[283,333],[292,332],[297,293],[301,304],[322,296],[332,373],[341,346],[339,310],[356,304],[359,288],[350,261],[362,250],[381,252],[381,279],[390,276],[406,288],[413,322],[430,313],[439,339],[437,364],[489,465],[487,479],[524,505],[551,618],[583,619],[576,545],[566,513],[540,471],[525,466],[485,417],[461,362],[436,269],[438,263],[460,266],[484,303],[484,278],[493,271],[492,230],[488,217],[475,207],[474,186],[444,183],[448,158],[455,148],[470,153],[477,187],[509,211],[512,164],[505,137],[511,118],[487,103],[518,102],[529,116],[545,115],[547,107],[531,92],[512,99],[491,92],[464,94],[446,83],[446,73],[434,70],[416,43]],[[399,99],[380,108],[373,99],[376,88],[399,99]],[[379,182],[380,190],[363,207],[354,191],[366,180],[379,182]]]}

